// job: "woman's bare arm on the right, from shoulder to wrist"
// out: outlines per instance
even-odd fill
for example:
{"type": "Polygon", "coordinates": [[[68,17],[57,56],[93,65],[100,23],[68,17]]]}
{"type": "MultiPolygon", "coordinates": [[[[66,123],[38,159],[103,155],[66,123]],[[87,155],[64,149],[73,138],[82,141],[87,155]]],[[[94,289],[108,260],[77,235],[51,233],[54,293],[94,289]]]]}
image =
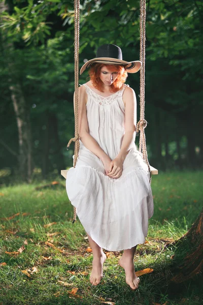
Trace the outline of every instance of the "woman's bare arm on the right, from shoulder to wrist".
{"type": "Polygon", "coordinates": [[[124,161],[136,139],[137,100],[136,94],[132,88],[125,88],[123,92],[123,102],[125,104],[125,134],[117,157],[120,157],[124,161]]]}

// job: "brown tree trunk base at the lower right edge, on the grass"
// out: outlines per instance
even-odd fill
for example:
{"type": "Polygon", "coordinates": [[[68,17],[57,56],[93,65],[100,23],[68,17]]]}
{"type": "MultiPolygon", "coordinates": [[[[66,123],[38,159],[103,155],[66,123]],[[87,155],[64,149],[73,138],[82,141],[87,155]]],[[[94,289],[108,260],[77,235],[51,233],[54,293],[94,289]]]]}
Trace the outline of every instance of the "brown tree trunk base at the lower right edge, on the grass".
{"type": "Polygon", "coordinates": [[[195,223],[190,230],[180,239],[173,242],[170,246],[178,247],[177,254],[185,252],[186,247],[189,246],[189,251],[181,258],[181,262],[175,264],[171,269],[173,273],[172,282],[182,283],[194,278],[203,269],[203,209],[201,210],[195,223]]]}

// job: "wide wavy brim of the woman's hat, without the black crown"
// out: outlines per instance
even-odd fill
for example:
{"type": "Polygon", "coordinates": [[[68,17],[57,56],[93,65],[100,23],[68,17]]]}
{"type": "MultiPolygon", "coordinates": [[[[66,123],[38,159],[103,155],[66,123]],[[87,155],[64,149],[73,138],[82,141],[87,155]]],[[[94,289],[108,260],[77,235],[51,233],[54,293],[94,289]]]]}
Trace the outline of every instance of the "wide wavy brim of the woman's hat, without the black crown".
{"type": "Polygon", "coordinates": [[[97,57],[88,60],[80,69],[80,75],[89,68],[93,63],[107,64],[107,65],[124,65],[124,68],[128,73],[136,73],[142,67],[140,60],[134,60],[133,62],[125,62],[125,60],[111,58],[111,57],[97,57]]]}

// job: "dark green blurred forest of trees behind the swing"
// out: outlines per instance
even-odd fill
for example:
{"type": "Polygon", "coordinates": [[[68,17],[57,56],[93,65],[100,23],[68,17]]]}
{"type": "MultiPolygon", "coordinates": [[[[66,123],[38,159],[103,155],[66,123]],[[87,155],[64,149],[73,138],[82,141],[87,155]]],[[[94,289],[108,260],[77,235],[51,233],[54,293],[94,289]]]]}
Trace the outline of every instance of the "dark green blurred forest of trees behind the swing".
{"type": "MultiPolygon", "coordinates": [[[[73,166],[74,2],[0,6],[0,183],[53,178],[73,166]]],[[[202,169],[202,19],[200,1],[146,1],[145,134],[159,171],[202,169]]],[[[139,1],[81,1],[79,68],[106,43],[120,46],[124,60],[140,59],[139,1]]],[[[126,83],[139,120],[140,72],[126,83]]]]}

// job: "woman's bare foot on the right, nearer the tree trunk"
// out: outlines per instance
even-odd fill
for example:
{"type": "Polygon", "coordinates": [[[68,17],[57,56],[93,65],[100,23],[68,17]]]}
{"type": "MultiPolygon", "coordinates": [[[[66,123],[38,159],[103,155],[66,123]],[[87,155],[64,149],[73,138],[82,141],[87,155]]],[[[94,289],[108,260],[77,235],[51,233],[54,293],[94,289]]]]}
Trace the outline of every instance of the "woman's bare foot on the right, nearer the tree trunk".
{"type": "Polygon", "coordinates": [[[134,271],[134,263],[132,259],[121,257],[118,261],[119,265],[125,270],[126,283],[132,290],[136,290],[140,283],[134,271]]]}

